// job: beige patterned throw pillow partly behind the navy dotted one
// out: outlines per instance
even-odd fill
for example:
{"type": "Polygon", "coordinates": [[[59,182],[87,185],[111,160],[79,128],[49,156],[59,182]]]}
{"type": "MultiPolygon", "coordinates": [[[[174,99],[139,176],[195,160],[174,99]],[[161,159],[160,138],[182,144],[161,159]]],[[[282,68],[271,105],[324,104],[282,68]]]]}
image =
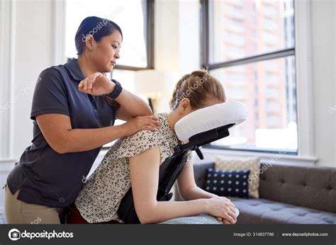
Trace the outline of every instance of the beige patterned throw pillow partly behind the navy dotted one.
{"type": "Polygon", "coordinates": [[[215,169],[228,171],[228,170],[250,170],[249,194],[252,198],[259,198],[259,178],[255,176],[259,173],[260,157],[254,158],[227,158],[216,157],[215,169]],[[253,176],[253,177],[252,177],[253,176]]]}

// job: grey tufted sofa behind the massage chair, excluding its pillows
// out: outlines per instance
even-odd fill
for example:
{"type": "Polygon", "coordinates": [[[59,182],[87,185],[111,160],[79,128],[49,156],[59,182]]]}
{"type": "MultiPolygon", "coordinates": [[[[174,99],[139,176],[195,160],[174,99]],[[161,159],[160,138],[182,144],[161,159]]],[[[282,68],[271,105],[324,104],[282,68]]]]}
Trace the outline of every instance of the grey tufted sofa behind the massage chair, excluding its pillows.
{"type": "MultiPolygon", "coordinates": [[[[197,186],[203,188],[206,169],[214,167],[194,164],[197,186]]],[[[240,210],[237,224],[336,224],[336,168],[273,164],[264,169],[259,198],[228,197],[240,210]]]]}

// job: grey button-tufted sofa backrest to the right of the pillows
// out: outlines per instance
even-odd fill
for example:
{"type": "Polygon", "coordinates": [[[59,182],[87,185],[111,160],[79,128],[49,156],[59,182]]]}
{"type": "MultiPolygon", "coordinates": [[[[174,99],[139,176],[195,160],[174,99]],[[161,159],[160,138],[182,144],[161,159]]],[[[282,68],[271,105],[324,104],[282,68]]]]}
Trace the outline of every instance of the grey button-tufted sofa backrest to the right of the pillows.
{"type": "MultiPolygon", "coordinates": [[[[261,169],[266,164],[261,164],[261,169]]],[[[336,212],[336,169],[273,164],[260,174],[260,198],[336,212]]]]}

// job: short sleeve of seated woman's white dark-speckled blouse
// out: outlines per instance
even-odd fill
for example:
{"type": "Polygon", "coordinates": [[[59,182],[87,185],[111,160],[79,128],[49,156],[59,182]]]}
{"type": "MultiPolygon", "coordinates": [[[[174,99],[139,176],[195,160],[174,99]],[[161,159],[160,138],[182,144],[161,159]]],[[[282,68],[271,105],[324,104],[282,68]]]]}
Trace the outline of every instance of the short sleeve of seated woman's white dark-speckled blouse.
{"type": "Polygon", "coordinates": [[[130,137],[121,139],[108,152],[113,158],[131,157],[154,148],[162,143],[162,135],[157,131],[141,130],[130,137]]]}

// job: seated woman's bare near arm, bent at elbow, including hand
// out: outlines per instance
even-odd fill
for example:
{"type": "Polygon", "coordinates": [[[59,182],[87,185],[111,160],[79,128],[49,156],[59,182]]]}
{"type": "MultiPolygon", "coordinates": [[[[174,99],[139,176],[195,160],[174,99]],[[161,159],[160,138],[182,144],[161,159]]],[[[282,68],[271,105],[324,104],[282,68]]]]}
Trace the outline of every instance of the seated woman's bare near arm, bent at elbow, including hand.
{"type": "Polygon", "coordinates": [[[142,223],[157,223],[175,217],[198,215],[208,212],[235,222],[235,209],[227,198],[189,200],[184,202],[158,202],[159,147],[130,157],[130,182],[133,190],[135,211],[142,223]]]}

